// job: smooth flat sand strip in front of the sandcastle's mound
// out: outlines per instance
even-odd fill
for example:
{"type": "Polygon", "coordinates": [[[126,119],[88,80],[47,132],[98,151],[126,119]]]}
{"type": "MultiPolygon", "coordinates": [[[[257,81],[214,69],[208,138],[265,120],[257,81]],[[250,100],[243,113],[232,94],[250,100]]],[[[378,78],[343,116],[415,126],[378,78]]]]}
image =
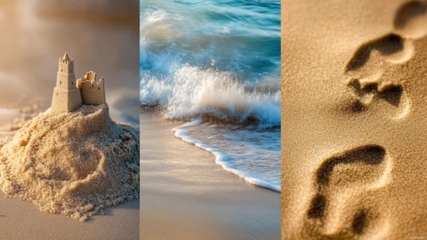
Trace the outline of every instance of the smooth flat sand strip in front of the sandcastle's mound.
{"type": "Polygon", "coordinates": [[[37,206],[0,193],[1,239],[138,239],[139,200],[106,208],[82,223],[41,212],[37,206]]]}

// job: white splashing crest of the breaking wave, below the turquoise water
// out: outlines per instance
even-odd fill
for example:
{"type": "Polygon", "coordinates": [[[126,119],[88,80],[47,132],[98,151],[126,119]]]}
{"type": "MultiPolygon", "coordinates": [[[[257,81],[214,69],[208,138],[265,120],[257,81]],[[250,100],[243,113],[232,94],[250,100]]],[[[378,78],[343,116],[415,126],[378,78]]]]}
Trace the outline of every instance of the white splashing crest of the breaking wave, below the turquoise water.
{"type": "Polygon", "coordinates": [[[167,118],[214,116],[266,127],[280,126],[280,90],[262,83],[245,85],[231,72],[200,69],[190,65],[171,67],[167,76],[141,78],[140,102],[160,105],[167,118]],[[266,85],[268,87],[266,87],[266,85]]]}

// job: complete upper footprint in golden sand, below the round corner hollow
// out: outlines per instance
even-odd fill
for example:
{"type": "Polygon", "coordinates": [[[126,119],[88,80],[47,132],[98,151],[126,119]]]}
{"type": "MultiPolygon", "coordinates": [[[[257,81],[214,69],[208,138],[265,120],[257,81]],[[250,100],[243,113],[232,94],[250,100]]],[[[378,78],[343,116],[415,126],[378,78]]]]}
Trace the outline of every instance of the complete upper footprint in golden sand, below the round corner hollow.
{"type": "Polygon", "coordinates": [[[346,65],[347,87],[352,98],[344,109],[351,113],[386,111],[386,116],[393,119],[406,116],[410,99],[398,81],[384,77],[387,76],[384,71],[412,56],[412,41],[397,34],[362,45],[346,65]]]}

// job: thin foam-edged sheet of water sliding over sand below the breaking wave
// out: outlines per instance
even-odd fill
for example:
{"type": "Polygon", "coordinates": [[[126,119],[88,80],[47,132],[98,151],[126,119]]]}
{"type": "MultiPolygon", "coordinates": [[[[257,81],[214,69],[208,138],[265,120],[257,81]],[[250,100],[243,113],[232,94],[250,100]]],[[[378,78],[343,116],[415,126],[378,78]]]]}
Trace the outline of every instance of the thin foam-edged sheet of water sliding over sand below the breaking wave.
{"type": "Polygon", "coordinates": [[[250,184],[280,192],[280,129],[256,131],[238,126],[227,129],[202,123],[196,119],[172,131],[185,142],[213,153],[216,164],[226,171],[250,184]],[[202,142],[200,135],[205,134],[209,134],[209,138],[202,142]]]}

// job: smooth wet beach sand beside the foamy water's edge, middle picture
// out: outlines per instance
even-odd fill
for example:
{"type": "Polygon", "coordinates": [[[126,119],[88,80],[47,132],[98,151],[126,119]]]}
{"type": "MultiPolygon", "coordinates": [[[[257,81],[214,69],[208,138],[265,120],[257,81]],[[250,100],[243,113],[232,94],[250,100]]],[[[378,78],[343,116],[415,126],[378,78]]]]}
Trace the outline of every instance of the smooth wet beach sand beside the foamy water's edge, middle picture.
{"type": "Polygon", "coordinates": [[[141,113],[140,239],[279,239],[280,193],[176,138],[184,122],[141,113]]]}

